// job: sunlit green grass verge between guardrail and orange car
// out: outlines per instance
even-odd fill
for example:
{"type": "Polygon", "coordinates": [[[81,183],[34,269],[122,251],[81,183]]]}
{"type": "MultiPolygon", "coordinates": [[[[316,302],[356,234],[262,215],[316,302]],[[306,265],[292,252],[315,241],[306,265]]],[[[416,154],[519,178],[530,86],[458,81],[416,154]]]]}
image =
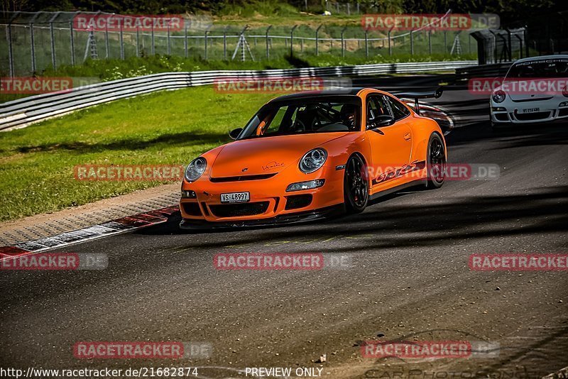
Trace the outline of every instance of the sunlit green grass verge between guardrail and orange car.
{"type": "Polygon", "coordinates": [[[158,92],[0,133],[0,221],[155,187],[85,182],[75,165],[187,165],[229,141],[273,94],[217,94],[211,87],[158,92]]]}

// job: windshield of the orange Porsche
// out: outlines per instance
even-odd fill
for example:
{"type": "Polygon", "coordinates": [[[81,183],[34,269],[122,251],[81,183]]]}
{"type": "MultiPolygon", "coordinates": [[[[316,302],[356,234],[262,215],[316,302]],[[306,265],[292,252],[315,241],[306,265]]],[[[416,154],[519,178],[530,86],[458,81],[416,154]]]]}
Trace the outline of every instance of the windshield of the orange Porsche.
{"type": "Polygon", "coordinates": [[[239,139],[360,131],[360,120],[361,100],[356,96],[273,101],[253,116],[239,139]]]}

